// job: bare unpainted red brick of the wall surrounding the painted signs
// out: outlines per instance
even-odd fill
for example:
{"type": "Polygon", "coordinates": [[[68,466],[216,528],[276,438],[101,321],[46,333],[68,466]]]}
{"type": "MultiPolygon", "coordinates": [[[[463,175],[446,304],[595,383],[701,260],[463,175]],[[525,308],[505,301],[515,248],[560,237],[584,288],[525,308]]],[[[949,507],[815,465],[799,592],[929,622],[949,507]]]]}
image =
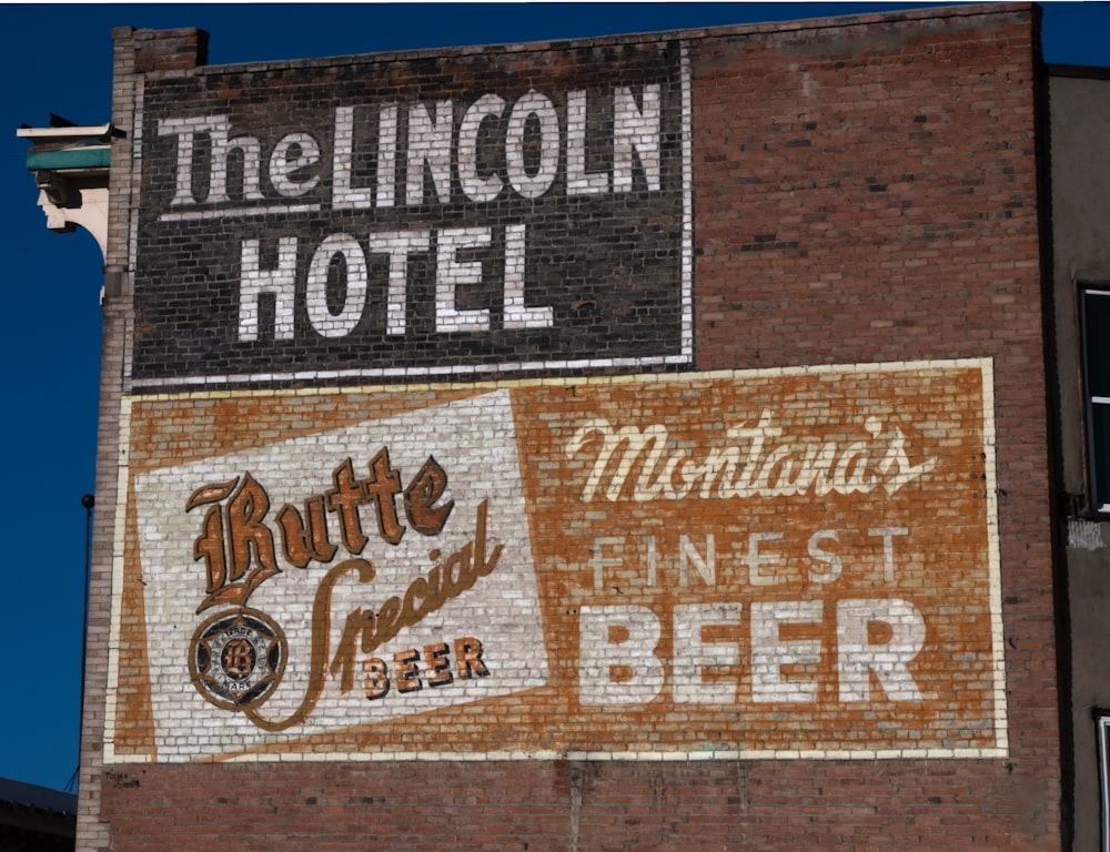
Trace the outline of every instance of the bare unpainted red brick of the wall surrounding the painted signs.
{"type": "MultiPolygon", "coordinates": [[[[1005,650],[1007,738],[983,751],[989,757],[962,757],[958,749],[968,746],[962,741],[928,740],[918,752],[911,744],[916,729],[902,720],[890,732],[888,749],[910,758],[878,749],[842,759],[821,741],[815,747],[820,759],[780,753],[780,759],[702,760],[682,753],[614,760],[606,744],[596,759],[584,750],[574,751],[574,759],[544,753],[536,760],[488,760],[478,750],[478,759],[471,752],[462,755],[468,759],[453,760],[444,754],[451,747],[432,736],[421,748],[437,759],[425,761],[395,759],[405,747],[385,748],[371,732],[363,734],[361,750],[382,748],[390,759],[306,760],[297,752],[304,743],[294,742],[258,762],[178,763],[172,755],[152,757],[148,748],[153,733],[143,726],[152,730],[153,722],[141,669],[150,661],[124,657],[120,666],[117,659],[112,682],[108,652],[101,649],[93,666],[103,667],[99,677],[104,692],[112,693],[115,714],[104,729],[111,753],[101,764],[95,736],[103,736],[98,724],[104,694],[89,710],[79,848],[1059,846],[1035,13],[1026,7],[965,8],[680,38],[688,45],[692,80],[695,317],[694,361],[682,369],[729,371],[727,381],[743,386],[746,374],[731,371],[845,365],[850,373],[859,365],[909,362],[912,375],[951,368],[955,359],[991,363],[986,375],[993,387],[982,389],[979,404],[992,412],[993,422],[993,434],[986,430],[982,440],[996,454],[997,467],[1000,600],[990,606],[1001,616],[995,640],[1005,650]],[[115,762],[112,755],[138,762],[115,762]]],[[[604,53],[619,43],[583,47],[604,53]]],[[[506,73],[524,73],[548,61],[544,49],[537,50],[509,51],[491,62],[506,73]]],[[[147,69],[140,63],[137,70],[147,69]]],[[[620,329],[612,334],[619,337],[620,329]]],[[[568,388],[573,384],[563,381],[568,388]]],[[[461,394],[470,392],[465,382],[458,385],[461,394]]],[[[415,398],[422,392],[407,393],[415,398]]],[[[450,395],[443,388],[437,393],[450,395]]],[[[410,404],[420,408],[417,402],[410,404]]],[[[850,396],[838,404],[851,405],[850,396]]],[[[216,419],[222,427],[205,422],[192,427],[195,435],[188,412],[181,417],[142,413],[173,405],[209,412],[213,403],[198,397],[151,398],[134,407],[123,403],[134,430],[122,439],[139,455],[130,462],[129,488],[143,470],[182,463],[189,454],[214,456],[234,448],[243,410],[236,406],[244,403],[229,399],[225,419],[216,419]],[[225,438],[225,446],[215,446],[225,438]]],[[[261,405],[281,412],[295,407],[281,399],[261,405]]],[[[568,410],[574,405],[568,402],[568,410]]],[[[683,405],[704,404],[676,397],[667,405],[667,416],[677,418],[683,405]]],[[[645,408],[644,417],[648,414],[645,408]]],[[[912,420],[912,413],[902,414],[912,420]]],[[[305,428],[322,427],[322,417],[305,428]]],[[[272,436],[248,437],[258,445],[290,434],[274,428],[272,436]]],[[[924,436],[912,433],[909,446],[924,436]]],[[[969,471],[980,469],[975,462],[982,458],[969,459],[969,471]]],[[[110,464],[105,469],[101,476],[114,483],[115,470],[110,464]]],[[[981,475],[982,487],[965,489],[960,510],[978,513],[990,524],[993,498],[985,488],[993,480],[981,475]]],[[[306,486],[304,495],[313,488],[306,486]]],[[[912,496],[902,499],[906,511],[922,518],[944,509],[920,498],[915,504],[912,496]]],[[[114,618],[124,649],[144,655],[145,646],[128,645],[142,632],[137,626],[142,623],[143,579],[134,572],[134,498],[121,494],[120,500],[128,523],[101,530],[110,537],[122,530],[114,540],[127,540],[117,545],[115,558],[127,559],[128,569],[121,574],[124,591],[114,618]]],[[[921,554],[929,558],[929,542],[921,554]]],[[[100,558],[97,588],[103,610],[110,597],[103,566],[110,560],[100,558]]],[[[946,578],[929,576],[942,592],[946,578]]],[[[972,595],[988,599],[986,581],[972,595]]],[[[955,657],[936,666],[952,682],[966,672],[955,657]]],[[[482,723],[494,731],[503,724],[505,739],[518,741],[514,726],[525,711],[491,707],[503,716],[482,723]]],[[[528,711],[529,724],[541,714],[542,730],[543,706],[528,706],[528,711]]],[[[990,718],[991,711],[981,716],[990,718]]],[[[559,722],[551,718],[551,727],[559,722]]],[[[774,716],[780,728],[768,739],[785,737],[790,748],[806,751],[805,724],[811,722],[783,708],[774,716]]],[[[673,730],[682,720],[668,723],[673,730]]],[[[696,716],[693,724],[699,724],[696,716]]],[[[403,728],[393,730],[403,742],[403,728]]],[[[652,740],[650,731],[635,734],[629,739],[652,740]]],[[[444,739],[452,736],[443,729],[444,739]]],[[[750,738],[736,739],[745,748],[751,744],[750,738]]],[[[660,752],[666,744],[660,734],[660,752]]],[[[327,750],[319,742],[309,746],[306,751],[327,750]]],[[[351,749],[340,742],[340,751],[351,749]]]]}

